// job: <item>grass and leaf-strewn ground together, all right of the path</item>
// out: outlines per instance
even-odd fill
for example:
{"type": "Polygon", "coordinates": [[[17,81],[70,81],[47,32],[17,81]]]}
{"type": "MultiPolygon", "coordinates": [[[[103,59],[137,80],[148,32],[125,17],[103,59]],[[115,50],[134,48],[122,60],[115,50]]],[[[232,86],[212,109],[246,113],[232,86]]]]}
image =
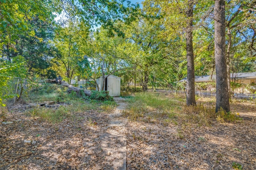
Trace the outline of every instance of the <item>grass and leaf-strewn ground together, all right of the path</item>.
{"type": "Polygon", "coordinates": [[[232,101],[231,113],[215,113],[214,98],[187,107],[183,95],[148,96],[128,104],[127,169],[254,169],[255,101],[232,101]]]}

